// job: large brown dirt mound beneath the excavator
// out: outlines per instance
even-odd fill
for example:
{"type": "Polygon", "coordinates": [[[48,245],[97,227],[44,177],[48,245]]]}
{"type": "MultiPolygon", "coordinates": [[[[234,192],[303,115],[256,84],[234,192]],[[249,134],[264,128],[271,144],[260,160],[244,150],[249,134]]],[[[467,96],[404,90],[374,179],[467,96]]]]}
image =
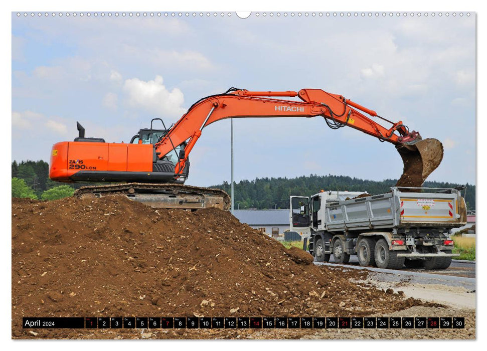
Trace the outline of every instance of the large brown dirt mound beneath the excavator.
{"type": "Polygon", "coordinates": [[[12,199],[12,333],[33,337],[23,316],[362,316],[421,304],[311,261],[214,208],[12,199]]]}

